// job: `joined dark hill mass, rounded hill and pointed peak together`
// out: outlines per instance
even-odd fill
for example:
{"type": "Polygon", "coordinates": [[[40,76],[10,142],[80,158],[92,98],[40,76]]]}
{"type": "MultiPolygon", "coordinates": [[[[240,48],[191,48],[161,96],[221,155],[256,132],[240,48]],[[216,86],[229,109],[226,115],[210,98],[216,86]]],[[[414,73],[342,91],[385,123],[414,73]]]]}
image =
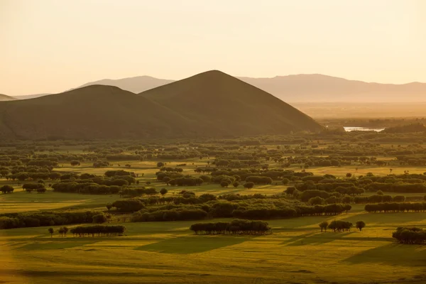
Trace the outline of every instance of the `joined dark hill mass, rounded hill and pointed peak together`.
{"type": "Polygon", "coordinates": [[[197,138],[322,129],[309,116],[219,71],[142,94],[91,85],[0,102],[0,138],[197,138]]]}

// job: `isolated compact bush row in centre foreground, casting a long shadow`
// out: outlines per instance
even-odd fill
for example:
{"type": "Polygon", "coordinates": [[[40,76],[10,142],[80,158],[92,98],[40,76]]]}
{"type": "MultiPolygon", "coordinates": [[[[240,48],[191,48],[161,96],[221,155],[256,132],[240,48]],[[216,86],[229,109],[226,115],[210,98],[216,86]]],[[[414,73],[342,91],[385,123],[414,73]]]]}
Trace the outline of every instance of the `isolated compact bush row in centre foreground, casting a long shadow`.
{"type": "Polygon", "coordinates": [[[263,235],[271,231],[264,221],[234,219],[231,222],[196,223],[190,226],[195,234],[249,234],[263,235]]]}

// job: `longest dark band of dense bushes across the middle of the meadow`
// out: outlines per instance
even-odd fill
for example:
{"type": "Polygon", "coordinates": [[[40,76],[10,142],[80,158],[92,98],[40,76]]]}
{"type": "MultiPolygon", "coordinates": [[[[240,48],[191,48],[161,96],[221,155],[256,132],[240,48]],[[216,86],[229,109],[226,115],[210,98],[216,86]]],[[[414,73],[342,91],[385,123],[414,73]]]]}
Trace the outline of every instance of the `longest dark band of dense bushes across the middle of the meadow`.
{"type": "MultiPolygon", "coordinates": [[[[190,195],[187,192],[184,195],[190,195]]],[[[143,200],[149,204],[149,200],[143,200]]],[[[152,200],[154,198],[152,197],[152,200]]],[[[155,200],[161,200],[155,199],[155,200]]],[[[125,204],[125,201],[122,201],[125,204]]],[[[135,204],[137,203],[134,201],[135,204]]],[[[142,202],[142,201],[141,201],[142,202]]],[[[127,205],[128,209],[122,207],[121,211],[132,212],[137,207],[127,205]]],[[[206,218],[227,218],[235,217],[242,219],[274,219],[292,218],[300,216],[334,216],[348,212],[350,204],[328,204],[308,206],[300,202],[290,202],[279,199],[251,199],[234,200],[234,202],[215,200],[212,195],[202,195],[200,197],[177,197],[174,204],[167,204],[163,207],[148,207],[133,214],[133,222],[148,221],[178,221],[206,218]],[[192,204],[180,203],[182,200],[192,200],[192,204]]]]}

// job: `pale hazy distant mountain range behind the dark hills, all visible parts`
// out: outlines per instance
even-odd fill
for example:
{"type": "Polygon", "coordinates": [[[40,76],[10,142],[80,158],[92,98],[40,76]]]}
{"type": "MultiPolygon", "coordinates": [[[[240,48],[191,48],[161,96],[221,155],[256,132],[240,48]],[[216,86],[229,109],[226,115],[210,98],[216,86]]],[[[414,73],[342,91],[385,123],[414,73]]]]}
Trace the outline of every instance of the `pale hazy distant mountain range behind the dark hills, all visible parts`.
{"type": "MultiPolygon", "coordinates": [[[[378,84],[326,75],[288,75],[273,78],[238,77],[285,102],[426,102],[426,84],[378,84]]],[[[149,76],[99,80],[83,84],[104,84],[138,94],[174,82],[149,76]]],[[[41,97],[45,94],[31,95],[41,97]]],[[[16,97],[23,99],[23,97],[16,97]]],[[[26,97],[28,99],[28,97],[26,97]]]]}

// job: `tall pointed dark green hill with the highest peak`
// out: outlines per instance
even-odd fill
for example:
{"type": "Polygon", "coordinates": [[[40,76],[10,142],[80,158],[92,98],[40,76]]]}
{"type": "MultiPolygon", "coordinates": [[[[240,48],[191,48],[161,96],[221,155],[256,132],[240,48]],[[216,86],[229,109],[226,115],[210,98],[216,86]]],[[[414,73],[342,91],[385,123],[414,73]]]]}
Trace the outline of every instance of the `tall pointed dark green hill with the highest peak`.
{"type": "Polygon", "coordinates": [[[142,92],[142,97],[234,135],[321,129],[309,116],[261,89],[220,71],[208,71],[142,92]]]}

